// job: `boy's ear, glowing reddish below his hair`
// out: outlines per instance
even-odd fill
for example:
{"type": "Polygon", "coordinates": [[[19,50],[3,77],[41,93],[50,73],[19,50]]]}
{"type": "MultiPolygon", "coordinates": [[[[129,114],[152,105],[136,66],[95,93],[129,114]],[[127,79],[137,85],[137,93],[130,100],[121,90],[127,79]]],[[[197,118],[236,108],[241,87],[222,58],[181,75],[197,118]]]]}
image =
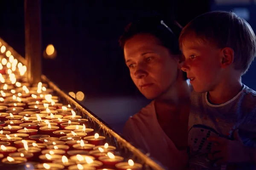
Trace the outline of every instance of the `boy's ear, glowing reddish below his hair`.
{"type": "Polygon", "coordinates": [[[234,61],[234,50],[230,47],[225,47],[221,50],[221,67],[226,68],[234,61]]]}

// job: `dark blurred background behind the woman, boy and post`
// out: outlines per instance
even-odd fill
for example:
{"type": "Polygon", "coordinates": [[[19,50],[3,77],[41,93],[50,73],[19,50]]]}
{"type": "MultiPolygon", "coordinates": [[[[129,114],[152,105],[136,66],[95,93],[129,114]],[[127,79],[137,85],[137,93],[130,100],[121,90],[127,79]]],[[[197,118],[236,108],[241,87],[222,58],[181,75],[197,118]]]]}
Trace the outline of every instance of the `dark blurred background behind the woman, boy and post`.
{"type": "MultiPolygon", "coordinates": [[[[118,44],[128,22],[156,11],[185,26],[204,12],[234,8],[249,10],[247,21],[256,29],[253,0],[246,4],[216,4],[213,0],[42,0],[42,51],[53,44],[58,54],[55,59],[42,58],[42,72],[65,92],[82,91],[82,103],[121,131],[128,116],[148,103],[131,81],[118,44]]],[[[0,37],[25,56],[23,0],[1,0],[0,37]]],[[[254,89],[255,71],[253,63],[243,77],[244,84],[254,89]]]]}

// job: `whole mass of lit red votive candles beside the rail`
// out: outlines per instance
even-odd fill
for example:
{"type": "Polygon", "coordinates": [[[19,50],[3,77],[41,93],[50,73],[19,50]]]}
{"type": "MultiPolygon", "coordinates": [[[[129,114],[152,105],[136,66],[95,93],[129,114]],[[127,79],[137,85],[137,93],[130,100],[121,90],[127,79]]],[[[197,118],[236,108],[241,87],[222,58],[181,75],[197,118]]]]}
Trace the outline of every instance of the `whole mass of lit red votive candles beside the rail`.
{"type": "MultiPolygon", "coordinates": [[[[2,48],[0,52],[4,53],[2,48]]],[[[35,165],[38,170],[142,169],[141,164],[131,159],[125,162],[118,156],[116,147],[109,146],[105,136],[86,128],[88,120],[76,115],[70,105],[60,103],[58,96],[52,96],[53,90],[47,84],[39,82],[30,87],[23,77],[26,66],[7,52],[0,63],[0,159],[3,164],[38,161],[35,165]]]]}

